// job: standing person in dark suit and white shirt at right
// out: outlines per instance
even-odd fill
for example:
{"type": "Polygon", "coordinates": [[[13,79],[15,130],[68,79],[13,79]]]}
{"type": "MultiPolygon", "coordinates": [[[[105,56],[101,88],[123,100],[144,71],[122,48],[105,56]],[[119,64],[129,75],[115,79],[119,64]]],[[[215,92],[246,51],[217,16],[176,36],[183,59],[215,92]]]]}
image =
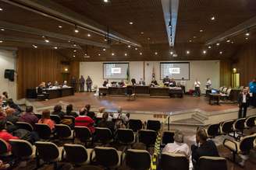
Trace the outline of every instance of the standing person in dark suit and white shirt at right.
{"type": "Polygon", "coordinates": [[[238,106],[239,106],[239,111],[238,111],[238,118],[246,117],[247,113],[247,107],[249,106],[249,99],[250,95],[247,91],[246,88],[243,89],[243,92],[240,92],[238,95],[238,106]]]}

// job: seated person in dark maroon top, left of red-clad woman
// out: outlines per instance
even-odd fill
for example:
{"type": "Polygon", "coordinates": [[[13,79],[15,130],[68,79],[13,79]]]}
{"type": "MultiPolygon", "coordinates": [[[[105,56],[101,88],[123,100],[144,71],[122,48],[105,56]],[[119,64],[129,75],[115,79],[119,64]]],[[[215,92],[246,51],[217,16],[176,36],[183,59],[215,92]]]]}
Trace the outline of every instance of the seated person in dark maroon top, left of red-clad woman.
{"type": "Polygon", "coordinates": [[[38,122],[38,118],[34,115],[33,106],[26,107],[26,112],[22,113],[19,121],[30,123],[34,127],[34,124],[38,122]]]}

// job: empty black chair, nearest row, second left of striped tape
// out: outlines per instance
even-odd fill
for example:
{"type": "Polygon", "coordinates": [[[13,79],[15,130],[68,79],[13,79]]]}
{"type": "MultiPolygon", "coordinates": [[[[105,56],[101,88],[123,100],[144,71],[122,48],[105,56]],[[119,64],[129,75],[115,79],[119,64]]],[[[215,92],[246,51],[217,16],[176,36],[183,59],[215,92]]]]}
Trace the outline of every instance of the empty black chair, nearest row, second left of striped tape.
{"type": "Polygon", "coordinates": [[[105,168],[117,168],[122,163],[122,152],[113,147],[94,147],[94,154],[96,164],[105,168]]]}

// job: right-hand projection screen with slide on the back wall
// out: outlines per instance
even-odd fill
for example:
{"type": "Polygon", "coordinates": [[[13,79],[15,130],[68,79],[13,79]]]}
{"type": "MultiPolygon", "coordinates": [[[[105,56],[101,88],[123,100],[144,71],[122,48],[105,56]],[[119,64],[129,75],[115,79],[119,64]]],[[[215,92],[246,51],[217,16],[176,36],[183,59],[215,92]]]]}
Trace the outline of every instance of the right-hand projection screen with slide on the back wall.
{"type": "Polygon", "coordinates": [[[160,77],[161,79],[166,76],[180,80],[184,78],[190,79],[190,63],[178,63],[178,62],[161,62],[160,63],[160,77]]]}

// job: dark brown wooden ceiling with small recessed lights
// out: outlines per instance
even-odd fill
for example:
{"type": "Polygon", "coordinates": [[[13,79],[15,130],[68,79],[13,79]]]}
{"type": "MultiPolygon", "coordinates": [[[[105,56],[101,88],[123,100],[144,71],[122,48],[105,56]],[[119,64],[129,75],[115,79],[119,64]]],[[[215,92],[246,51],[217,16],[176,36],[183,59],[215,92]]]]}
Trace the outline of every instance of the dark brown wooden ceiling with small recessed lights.
{"type": "MultiPolygon", "coordinates": [[[[161,0],[108,1],[108,3],[103,0],[55,0],[54,2],[98,23],[101,29],[112,29],[120,35],[137,41],[142,47],[128,47],[125,43],[112,40],[108,42],[110,47],[105,50],[103,50],[104,47],[84,43],[76,43],[81,49],[73,49],[73,47],[66,47],[66,45],[72,46],[73,41],[54,37],[43,38],[44,35],[17,30],[1,31],[1,25],[0,40],[1,36],[14,36],[20,40],[34,40],[35,43],[2,38],[0,47],[33,48],[32,45],[36,44],[38,48],[53,48],[55,43],[66,44],[57,50],[70,60],[77,61],[222,60],[232,58],[241,45],[254,42],[256,37],[255,30],[251,29],[250,36],[241,33],[230,37],[228,42],[222,40],[219,45],[205,46],[208,40],[256,16],[255,0],[180,0],[174,48],[169,47],[161,0]],[[215,20],[211,19],[212,16],[215,20]],[[45,43],[45,39],[50,40],[51,44],[45,43]],[[41,41],[40,44],[37,44],[38,40],[41,41]],[[176,53],[177,56],[173,57],[172,53],[176,53]]],[[[0,1],[0,8],[3,9],[0,11],[0,21],[107,44],[105,35],[98,35],[86,29],[79,29],[80,32],[75,33],[75,25],[62,22],[60,19],[49,18],[4,1],[0,1]]],[[[85,22],[89,21],[85,20],[85,22]]]]}

